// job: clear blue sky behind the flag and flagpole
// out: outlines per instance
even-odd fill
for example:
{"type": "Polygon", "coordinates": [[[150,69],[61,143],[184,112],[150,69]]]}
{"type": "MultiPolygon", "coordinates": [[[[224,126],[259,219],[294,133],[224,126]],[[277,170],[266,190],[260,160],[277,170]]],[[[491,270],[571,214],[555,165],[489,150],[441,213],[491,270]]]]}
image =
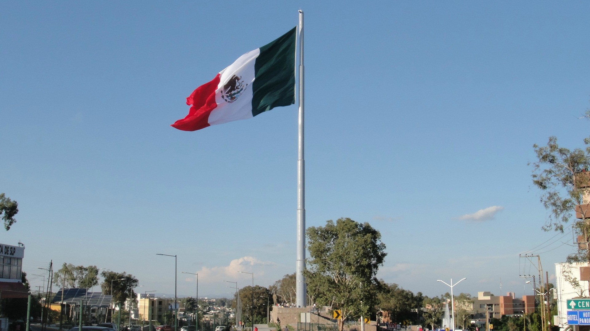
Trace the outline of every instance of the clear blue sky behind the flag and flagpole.
{"type": "Polygon", "coordinates": [[[548,239],[536,252],[555,274],[571,235],[540,229],[527,163],[550,135],[574,148],[590,131],[582,1],[2,2],[0,192],[20,211],[0,242],[25,243],[24,270],[95,264],[173,293],[155,254],[178,254],[208,296],[250,284],[238,270],[263,286],[294,272],[296,106],[169,124],[300,8],[307,226],[368,221],[387,246],[379,277],[430,296],[463,277],[457,292],[499,294],[501,279],[520,295],[518,254],[548,239]]]}

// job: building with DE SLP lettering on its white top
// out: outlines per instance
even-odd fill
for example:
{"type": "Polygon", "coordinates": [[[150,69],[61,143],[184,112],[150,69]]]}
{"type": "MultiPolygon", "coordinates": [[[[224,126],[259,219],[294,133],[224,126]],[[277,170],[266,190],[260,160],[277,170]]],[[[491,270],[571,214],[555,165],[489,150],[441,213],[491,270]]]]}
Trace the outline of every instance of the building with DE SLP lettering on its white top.
{"type": "Polygon", "coordinates": [[[0,299],[24,299],[29,290],[22,284],[22,259],[25,246],[0,244],[0,299]]]}

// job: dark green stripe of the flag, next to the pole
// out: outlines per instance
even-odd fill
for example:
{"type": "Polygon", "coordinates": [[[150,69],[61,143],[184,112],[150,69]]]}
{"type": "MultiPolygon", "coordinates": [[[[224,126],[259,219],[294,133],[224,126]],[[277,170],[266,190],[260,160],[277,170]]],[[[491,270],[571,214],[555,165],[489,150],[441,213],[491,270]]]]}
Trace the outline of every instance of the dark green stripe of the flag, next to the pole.
{"type": "Polygon", "coordinates": [[[252,115],[295,103],[296,28],[260,48],[254,64],[252,115]]]}

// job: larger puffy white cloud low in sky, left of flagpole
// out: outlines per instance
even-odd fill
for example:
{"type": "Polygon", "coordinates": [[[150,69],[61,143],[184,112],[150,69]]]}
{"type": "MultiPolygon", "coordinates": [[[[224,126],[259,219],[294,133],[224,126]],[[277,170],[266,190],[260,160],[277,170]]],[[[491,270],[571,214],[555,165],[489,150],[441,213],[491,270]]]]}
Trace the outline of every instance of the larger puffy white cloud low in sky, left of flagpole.
{"type": "MultiPolygon", "coordinates": [[[[254,272],[255,269],[256,276],[258,277],[264,275],[265,268],[274,267],[275,265],[276,263],[274,262],[261,261],[253,256],[244,256],[240,257],[240,259],[231,260],[228,266],[202,267],[201,270],[195,273],[199,274],[199,282],[219,282],[226,279],[233,280],[237,277],[241,278],[242,276],[248,276],[248,279],[250,279],[250,274],[243,275],[238,272],[254,272]]],[[[188,277],[185,280],[191,282],[196,280],[196,277],[188,277]]]]}

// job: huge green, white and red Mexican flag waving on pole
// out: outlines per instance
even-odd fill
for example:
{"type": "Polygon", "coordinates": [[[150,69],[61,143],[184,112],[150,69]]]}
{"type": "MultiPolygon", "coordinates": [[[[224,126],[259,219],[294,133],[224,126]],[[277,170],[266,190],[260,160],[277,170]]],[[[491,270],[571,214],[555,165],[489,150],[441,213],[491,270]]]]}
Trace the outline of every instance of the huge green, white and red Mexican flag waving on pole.
{"type": "Polygon", "coordinates": [[[195,131],[245,120],[295,103],[296,28],[247,52],[186,98],[191,109],[172,127],[195,131]]]}

